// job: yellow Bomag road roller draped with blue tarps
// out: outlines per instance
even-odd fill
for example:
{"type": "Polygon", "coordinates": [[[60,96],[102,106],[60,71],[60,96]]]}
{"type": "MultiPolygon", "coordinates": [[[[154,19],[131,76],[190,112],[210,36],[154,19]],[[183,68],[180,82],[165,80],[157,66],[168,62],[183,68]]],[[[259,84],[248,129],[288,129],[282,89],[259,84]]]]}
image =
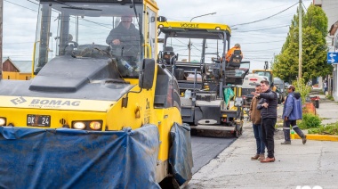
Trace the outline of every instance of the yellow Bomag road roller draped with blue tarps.
{"type": "Polygon", "coordinates": [[[40,0],[38,11],[32,79],[0,80],[0,187],[187,185],[190,128],[157,64],[156,2],[40,0]]]}

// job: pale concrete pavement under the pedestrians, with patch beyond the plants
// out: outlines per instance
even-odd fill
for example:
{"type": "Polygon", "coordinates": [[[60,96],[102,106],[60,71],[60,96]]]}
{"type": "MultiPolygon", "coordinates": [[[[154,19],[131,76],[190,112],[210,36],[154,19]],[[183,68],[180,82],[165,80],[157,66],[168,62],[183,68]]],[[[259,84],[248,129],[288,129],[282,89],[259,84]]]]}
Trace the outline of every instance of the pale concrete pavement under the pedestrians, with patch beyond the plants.
{"type": "MultiPolygon", "coordinates": [[[[319,116],[326,123],[336,122],[338,103],[323,98],[319,116]]],[[[282,145],[282,132],[278,128],[275,135],[276,161],[261,163],[250,159],[256,144],[252,124],[246,122],[243,136],[198,170],[187,188],[338,188],[338,143],[308,140],[302,144],[294,139],[291,145],[282,145]]]]}

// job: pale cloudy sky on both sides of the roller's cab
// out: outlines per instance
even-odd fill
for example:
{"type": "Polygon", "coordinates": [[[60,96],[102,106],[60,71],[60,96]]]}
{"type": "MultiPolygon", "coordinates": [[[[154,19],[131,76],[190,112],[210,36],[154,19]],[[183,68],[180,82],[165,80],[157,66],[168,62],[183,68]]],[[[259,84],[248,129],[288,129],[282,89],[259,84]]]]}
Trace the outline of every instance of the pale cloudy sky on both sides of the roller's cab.
{"type": "MultiPolygon", "coordinates": [[[[303,0],[303,6],[308,8],[311,2],[303,0]]],[[[190,21],[216,12],[193,21],[229,25],[231,45],[242,46],[252,68],[262,68],[264,62],[271,62],[273,55],[280,52],[297,3],[298,0],[157,0],[159,14],[169,21],[190,21]],[[254,23],[245,24],[248,22],[254,23]]],[[[37,7],[35,0],[4,0],[4,57],[10,56],[14,61],[32,59],[37,7]]]]}

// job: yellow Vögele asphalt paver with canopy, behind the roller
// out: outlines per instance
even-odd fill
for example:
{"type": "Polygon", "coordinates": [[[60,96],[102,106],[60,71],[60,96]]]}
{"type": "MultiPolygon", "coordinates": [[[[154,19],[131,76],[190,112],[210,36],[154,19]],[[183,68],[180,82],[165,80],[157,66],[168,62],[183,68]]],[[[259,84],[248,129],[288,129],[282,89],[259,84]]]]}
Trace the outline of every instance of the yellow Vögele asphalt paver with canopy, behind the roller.
{"type": "Polygon", "coordinates": [[[242,62],[240,51],[225,60],[229,26],[163,21],[157,27],[163,37],[158,63],[178,81],[183,122],[201,136],[240,136],[244,112],[238,85],[243,84],[250,62],[242,62]]]}

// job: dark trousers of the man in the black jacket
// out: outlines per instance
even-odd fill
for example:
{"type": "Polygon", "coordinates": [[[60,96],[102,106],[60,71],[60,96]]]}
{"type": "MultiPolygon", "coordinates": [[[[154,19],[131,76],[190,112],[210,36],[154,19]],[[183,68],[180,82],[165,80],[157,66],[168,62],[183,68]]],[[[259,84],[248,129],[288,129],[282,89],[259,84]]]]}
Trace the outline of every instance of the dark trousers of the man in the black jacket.
{"type": "Polygon", "coordinates": [[[262,119],[262,137],[265,146],[267,146],[269,158],[275,157],[275,142],[273,136],[275,135],[276,121],[277,118],[262,119]]]}

